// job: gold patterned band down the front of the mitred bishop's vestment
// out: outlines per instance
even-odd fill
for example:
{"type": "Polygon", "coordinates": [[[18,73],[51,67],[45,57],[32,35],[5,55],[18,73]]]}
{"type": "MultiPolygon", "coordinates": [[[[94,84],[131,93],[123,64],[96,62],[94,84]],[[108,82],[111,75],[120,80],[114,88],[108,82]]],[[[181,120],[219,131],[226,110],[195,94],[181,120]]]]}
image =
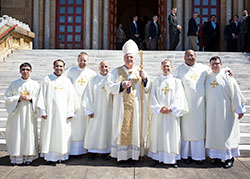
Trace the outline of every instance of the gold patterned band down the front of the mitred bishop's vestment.
{"type": "MultiPolygon", "coordinates": [[[[122,67],[118,68],[119,80],[121,82],[128,80],[128,74],[122,67]]],[[[121,126],[120,145],[131,146],[133,137],[133,115],[134,115],[134,101],[135,101],[135,85],[140,80],[135,71],[132,71],[132,76],[136,77],[131,79],[131,91],[123,90],[123,105],[124,117],[121,126]]]]}

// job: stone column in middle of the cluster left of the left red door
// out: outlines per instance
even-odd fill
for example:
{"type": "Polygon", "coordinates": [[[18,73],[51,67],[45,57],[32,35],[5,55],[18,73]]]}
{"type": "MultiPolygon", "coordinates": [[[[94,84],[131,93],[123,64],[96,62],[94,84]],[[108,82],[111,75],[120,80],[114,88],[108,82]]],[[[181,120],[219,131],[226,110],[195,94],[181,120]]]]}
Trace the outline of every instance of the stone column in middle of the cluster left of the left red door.
{"type": "Polygon", "coordinates": [[[50,0],[45,0],[45,13],[44,13],[44,48],[49,49],[50,39],[50,0]]]}

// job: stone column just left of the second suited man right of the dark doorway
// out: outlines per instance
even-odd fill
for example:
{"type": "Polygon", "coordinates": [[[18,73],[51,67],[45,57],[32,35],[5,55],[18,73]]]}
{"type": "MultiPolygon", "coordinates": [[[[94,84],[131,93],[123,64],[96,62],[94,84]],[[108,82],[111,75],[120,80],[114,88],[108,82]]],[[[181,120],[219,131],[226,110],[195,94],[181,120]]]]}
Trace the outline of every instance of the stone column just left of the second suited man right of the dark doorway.
{"type": "Polygon", "coordinates": [[[185,16],[184,16],[184,24],[183,24],[183,30],[182,32],[184,33],[184,50],[189,49],[189,39],[187,36],[187,32],[188,32],[188,21],[192,16],[191,13],[191,0],[185,0],[185,16]]]}

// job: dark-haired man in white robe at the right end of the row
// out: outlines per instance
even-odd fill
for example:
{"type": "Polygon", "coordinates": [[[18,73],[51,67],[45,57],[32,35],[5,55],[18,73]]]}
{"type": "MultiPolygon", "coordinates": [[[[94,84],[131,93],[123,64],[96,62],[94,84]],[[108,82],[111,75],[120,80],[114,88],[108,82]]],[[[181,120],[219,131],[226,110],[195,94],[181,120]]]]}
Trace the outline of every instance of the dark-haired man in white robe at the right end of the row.
{"type": "Polygon", "coordinates": [[[218,56],[210,59],[212,73],[206,80],[206,149],[212,164],[224,160],[224,168],[230,168],[234,157],[240,155],[239,119],[246,110],[236,80],[224,73],[221,66],[218,56]]]}

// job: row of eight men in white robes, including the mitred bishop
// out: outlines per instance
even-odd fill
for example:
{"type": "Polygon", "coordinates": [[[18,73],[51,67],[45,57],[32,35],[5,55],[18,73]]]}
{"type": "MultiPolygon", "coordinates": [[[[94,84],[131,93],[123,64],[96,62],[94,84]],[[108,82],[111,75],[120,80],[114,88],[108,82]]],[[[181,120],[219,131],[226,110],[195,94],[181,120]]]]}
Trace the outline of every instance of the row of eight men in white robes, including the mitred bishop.
{"type": "Polygon", "coordinates": [[[64,61],[55,60],[54,72],[41,84],[31,79],[29,63],[20,65],[21,77],[5,92],[11,164],[30,165],[40,153],[55,165],[90,153],[91,160],[101,154],[118,163],[147,155],[150,166],[166,168],[177,168],[181,159],[202,165],[207,156],[213,165],[232,167],[240,155],[245,99],[220,57],[212,57],[209,67],[187,50],[174,70],[164,59],[162,74],[152,82],[135,66],[136,43],[128,40],[122,51],[124,65],[110,73],[107,61],[100,62],[98,74],[88,68],[86,52],[65,72],[64,61]]]}

